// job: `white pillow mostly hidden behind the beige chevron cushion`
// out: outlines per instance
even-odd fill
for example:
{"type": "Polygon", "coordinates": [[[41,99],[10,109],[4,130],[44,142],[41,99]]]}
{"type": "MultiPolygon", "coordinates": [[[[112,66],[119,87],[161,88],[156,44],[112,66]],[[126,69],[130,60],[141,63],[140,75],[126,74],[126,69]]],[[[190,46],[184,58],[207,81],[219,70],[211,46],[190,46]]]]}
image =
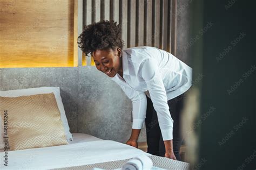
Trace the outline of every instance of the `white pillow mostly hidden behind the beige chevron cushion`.
{"type": "MultiPolygon", "coordinates": [[[[46,93],[52,93],[55,95],[57,105],[60,111],[60,119],[62,119],[62,123],[65,130],[66,139],[68,141],[73,140],[73,136],[70,133],[69,130],[69,123],[66,119],[66,114],[64,110],[64,106],[62,103],[62,98],[60,96],[60,90],[59,87],[37,87],[37,88],[29,88],[29,89],[18,89],[18,90],[7,90],[7,91],[1,91],[0,90],[0,96],[2,97],[19,97],[19,96],[30,96],[30,95],[37,95],[37,94],[46,94],[46,93]]],[[[8,110],[8,108],[6,109],[8,110]]],[[[3,125],[2,125],[2,119],[0,119],[0,148],[4,148],[4,135],[3,135],[3,125]]]]}

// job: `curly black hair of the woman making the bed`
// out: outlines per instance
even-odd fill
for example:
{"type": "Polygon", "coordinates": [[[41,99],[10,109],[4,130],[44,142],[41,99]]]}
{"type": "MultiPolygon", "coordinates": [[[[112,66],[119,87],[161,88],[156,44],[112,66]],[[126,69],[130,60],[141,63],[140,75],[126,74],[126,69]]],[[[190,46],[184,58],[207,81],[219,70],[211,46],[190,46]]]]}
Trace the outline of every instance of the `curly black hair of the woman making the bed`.
{"type": "Polygon", "coordinates": [[[83,32],[78,36],[77,44],[85,55],[97,49],[123,49],[122,27],[113,20],[85,25],[83,32]]]}

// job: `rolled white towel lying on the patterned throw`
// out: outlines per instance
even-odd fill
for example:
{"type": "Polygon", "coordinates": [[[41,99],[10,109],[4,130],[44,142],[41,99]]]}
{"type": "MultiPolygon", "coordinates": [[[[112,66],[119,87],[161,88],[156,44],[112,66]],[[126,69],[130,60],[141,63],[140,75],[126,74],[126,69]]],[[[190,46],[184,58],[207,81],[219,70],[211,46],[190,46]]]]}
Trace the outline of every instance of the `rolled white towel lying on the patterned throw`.
{"type": "Polygon", "coordinates": [[[146,155],[133,158],[127,161],[123,166],[122,170],[149,170],[153,166],[152,160],[146,155]]]}

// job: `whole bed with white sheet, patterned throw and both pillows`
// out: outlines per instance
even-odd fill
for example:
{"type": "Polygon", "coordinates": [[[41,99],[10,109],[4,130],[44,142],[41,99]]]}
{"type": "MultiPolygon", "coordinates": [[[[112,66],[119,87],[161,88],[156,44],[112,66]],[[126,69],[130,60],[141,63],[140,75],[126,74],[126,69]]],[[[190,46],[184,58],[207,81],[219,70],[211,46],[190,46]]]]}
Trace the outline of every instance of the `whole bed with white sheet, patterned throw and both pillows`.
{"type": "Polygon", "coordinates": [[[151,155],[114,140],[71,133],[59,87],[0,92],[0,169],[117,169],[136,157],[150,158],[153,168],[189,168],[186,162],[151,155]]]}

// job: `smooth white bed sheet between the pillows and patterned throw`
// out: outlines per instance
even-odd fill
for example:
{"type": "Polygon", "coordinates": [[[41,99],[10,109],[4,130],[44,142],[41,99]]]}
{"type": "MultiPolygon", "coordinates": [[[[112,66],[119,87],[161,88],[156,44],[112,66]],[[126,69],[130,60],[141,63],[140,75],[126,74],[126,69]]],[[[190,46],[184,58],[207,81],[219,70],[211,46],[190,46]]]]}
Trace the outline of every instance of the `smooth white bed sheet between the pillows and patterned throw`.
{"type": "Polygon", "coordinates": [[[151,155],[132,146],[113,140],[102,140],[89,134],[73,133],[69,145],[9,151],[8,167],[0,153],[0,169],[51,169],[124,160],[139,155],[151,155]]]}

